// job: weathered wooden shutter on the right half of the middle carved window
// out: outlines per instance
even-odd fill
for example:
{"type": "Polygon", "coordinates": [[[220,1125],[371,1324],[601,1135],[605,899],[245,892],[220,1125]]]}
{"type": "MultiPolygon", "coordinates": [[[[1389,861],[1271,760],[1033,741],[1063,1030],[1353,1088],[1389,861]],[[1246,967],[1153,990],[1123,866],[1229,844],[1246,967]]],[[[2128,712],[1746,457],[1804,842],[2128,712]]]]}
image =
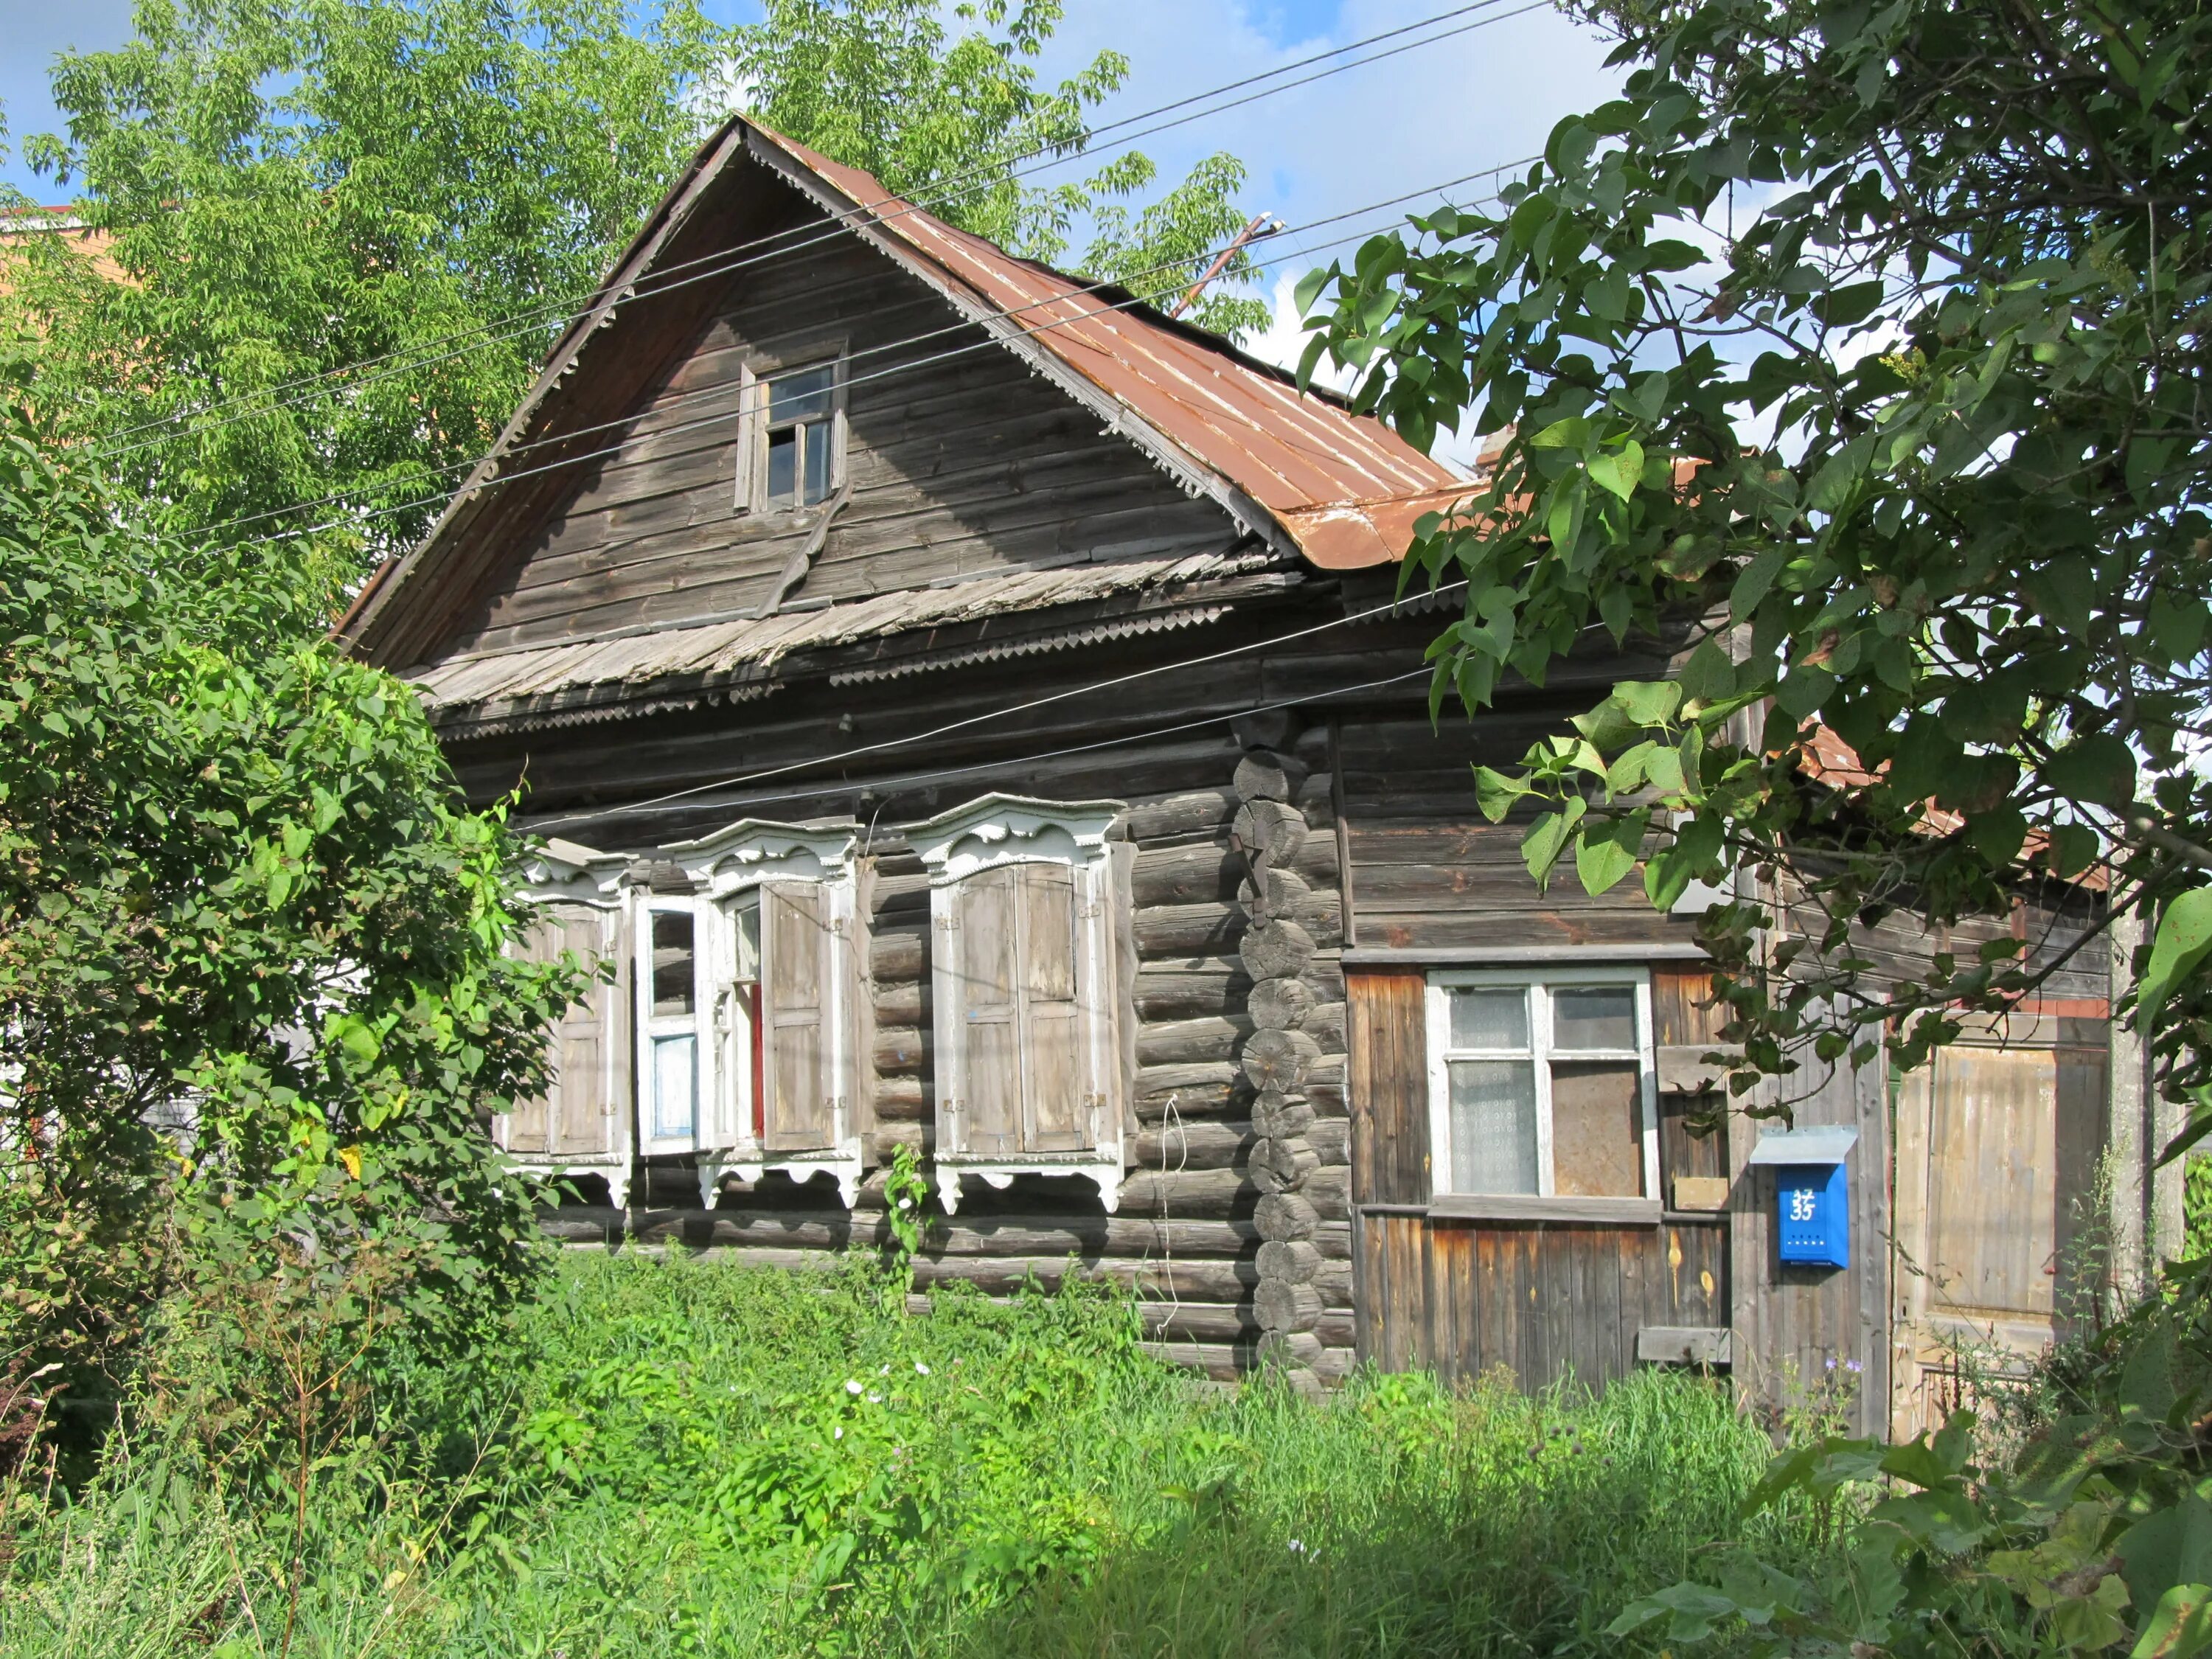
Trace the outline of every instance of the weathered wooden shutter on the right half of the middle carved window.
{"type": "Polygon", "coordinates": [[[821,1152],[836,1141],[836,1042],[830,1024],[834,916],[821,883],[761,887],[761,1144],[821,1152]]]}

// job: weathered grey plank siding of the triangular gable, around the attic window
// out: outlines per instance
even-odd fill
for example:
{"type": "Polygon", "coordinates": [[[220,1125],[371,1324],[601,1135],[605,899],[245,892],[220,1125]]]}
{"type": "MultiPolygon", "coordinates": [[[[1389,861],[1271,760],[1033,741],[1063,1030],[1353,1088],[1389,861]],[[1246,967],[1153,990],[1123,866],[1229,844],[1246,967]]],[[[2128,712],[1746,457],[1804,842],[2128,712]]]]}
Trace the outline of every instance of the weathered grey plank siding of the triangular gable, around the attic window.
{"type": "Polygon", "coordinates": [[[748,356],[803,363],[841,345],[852,498],[792,599],[1234,538],[1217,507],[1186,498],[918,279],[841,237],[730,281],[635,418],[597,438],[641,442],[588,465],[440,655],[763,604],[827,507],[734,509],[739,369],[748,356]]]}

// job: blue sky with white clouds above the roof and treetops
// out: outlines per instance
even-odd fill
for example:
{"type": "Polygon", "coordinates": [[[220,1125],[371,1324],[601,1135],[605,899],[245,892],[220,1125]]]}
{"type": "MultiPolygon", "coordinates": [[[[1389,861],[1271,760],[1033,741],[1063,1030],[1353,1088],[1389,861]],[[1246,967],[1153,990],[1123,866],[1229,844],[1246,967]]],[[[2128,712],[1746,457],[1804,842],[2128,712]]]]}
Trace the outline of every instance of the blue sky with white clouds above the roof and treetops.
{"type": "MultiPolygon", "coordinates": [[[[1106,46],[1128,55],[1130,75],[1099,122],[1166,104],[1245,75],[1449,11],[1458,0],[1066,0],[1066,20],[1042,64],[1073,73],[1106,46]]],[[[1511,11],[1517,0],[1506,0],[1511,11]]],[[[723,22],[757,15],[752,0],[706,0],[723,22]]],[[[1449,24],[1447,24],[1449,27],[1449,24]]],[[[27,133],[58,126],[46,71],[62,49],[115,46],[131,33],[128,0],[0,0],[0,106],[11,155],[0,181],[53,199],[20,157],[27,133]]],[[[1287,310],[1287,290],[1310,263],[1296,250],[1347,230],[1378,226],[1367,215],[1310,230],[1347,208],[1427,190],[1447,179],[1524,157],[1544,146],[1553,122],[1608,97],[1606,46],[1557,11],[1486,22],[1416,53],[1265,97],[1219,117],[1139,142],[1179,177],[1192,161],[1230,150],[1252,168],[1248,206],[1290,223],[1267,272],[1270,299],[1287,310]],[[1287,259],[1285,259],[1287,254],[1287,259]]],[[[1044,175],[1048,181],[1057,175],[1044,175]]],[[[1462,188],[1460,195],[1469,195],[1462,188]]],[[[1336,250],[1321,252],[1329,259],[1336,250]]],[[[1283,316],[1270,354],[1294,354],[1296,330],[1283,316]]]]}

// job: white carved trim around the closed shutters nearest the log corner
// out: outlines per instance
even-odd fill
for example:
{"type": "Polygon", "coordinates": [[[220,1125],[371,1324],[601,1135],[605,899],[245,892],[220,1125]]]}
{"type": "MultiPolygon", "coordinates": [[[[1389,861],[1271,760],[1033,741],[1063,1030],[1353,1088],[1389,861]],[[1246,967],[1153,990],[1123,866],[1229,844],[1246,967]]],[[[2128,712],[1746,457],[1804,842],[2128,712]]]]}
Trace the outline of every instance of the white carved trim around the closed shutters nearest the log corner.
{"type": "Polygon", "coordinates": [[[911,825],[907,841],[929,869],[929,973],[938,1093],[938,1201],[960,1208],[960,1181],[1004,1190],[1015,1175],[1082,1177],[1099,1190],[1106,1212],[1121,1203],[1128,1166],[1128,1119],[1117,1031],[1126,1018],[1117,936],[1126,927],[1108,832],[1124,812],[1119,801],[1037,801],[987,794],[936,818],[911,825]],[[1079,1152],[975,1155],[964,1150],[967,1031],[953,975],[960,973],[956,931],[960,883],[987,869],[1020,863],[1066,865],[1075,878],[1075,989],[1084,1018],[1079,1055],[1088,1084],[1091,1146],[1079,1152]]]}

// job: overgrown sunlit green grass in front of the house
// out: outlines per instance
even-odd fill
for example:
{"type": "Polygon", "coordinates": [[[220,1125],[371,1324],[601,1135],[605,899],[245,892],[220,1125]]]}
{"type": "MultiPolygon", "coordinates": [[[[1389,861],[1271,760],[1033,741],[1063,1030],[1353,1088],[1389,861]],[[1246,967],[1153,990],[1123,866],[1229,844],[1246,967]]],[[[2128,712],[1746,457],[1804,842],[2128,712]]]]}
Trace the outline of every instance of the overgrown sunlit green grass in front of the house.
{"type": "Polygon", "coordinates": [[[281,1460],[173,1429],[18,1491],[0,1655],[263,1659],[288,1613],[316,1659],[1610,1655],[1767,1460],[1694,1378],[1314,1405],[1155,1365],[1106,1296],[905,1318],[646,1256],[566,1261],[500,1376],[429,1383],[469,1405],[319,1449],[296,1608],[281,1460]]]}

